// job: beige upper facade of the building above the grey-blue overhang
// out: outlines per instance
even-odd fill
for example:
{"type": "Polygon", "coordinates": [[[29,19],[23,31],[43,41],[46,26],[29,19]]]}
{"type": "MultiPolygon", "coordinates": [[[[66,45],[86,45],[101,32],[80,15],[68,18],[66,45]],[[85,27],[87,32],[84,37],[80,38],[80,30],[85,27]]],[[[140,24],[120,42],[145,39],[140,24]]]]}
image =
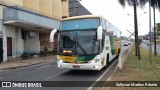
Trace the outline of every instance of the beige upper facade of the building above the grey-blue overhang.
{"type": "Polygon", "coordinates": [[[62,19],[68,17],[68,0],[0,0],[10,5],[21,6],[39,14],[62,19]],[[45,8],[44,8],[45,7],[45,8]]]}

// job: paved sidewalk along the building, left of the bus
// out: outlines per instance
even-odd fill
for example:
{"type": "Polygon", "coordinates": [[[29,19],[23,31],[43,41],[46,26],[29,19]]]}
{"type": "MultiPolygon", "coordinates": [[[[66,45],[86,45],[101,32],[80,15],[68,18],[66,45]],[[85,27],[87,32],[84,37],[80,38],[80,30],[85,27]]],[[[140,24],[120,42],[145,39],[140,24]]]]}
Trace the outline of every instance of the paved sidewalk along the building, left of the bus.
{"type": "Polygon", "coordinates": [[[16,69],[20,67],[26,67],[41,63],[47,63],[47,62],[55,62],[56,55],[52,56],[46,56],[46,57],[37,57],[33,59],[25,59],[25,60],[12,60],[7,62],[0,63],[0,70],[7,70],[7,69],[16,69]]]}

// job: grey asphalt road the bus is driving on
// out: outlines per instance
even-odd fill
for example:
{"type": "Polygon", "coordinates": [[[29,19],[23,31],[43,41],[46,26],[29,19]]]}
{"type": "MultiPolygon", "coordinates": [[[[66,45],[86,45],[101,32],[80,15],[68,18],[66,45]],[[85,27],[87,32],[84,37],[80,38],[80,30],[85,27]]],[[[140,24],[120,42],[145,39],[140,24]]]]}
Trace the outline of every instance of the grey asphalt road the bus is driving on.
{"type": "MultiPolygon", "coordinates": [[[[123,46],[122,53],[130,48],[123,46]]],[[[59,69],[57,63],[45,63],[0,72],[0,81],[106,81],[113,74],[118,63],[115,59],[100,71],[59,69]]],[[[70,83],[72,84],[72,83],[70,83]]],[[[93,84],[92,84],[93,85],[93,84]]],[[[92,86],[91,85],[91,86],[92,86]]],[[[91,90],[91,87],[52,87],[52,88],[0,88],[0,90],[91,90]]],[[[95,89],[95,88],[94,88],[95,89]]]]}

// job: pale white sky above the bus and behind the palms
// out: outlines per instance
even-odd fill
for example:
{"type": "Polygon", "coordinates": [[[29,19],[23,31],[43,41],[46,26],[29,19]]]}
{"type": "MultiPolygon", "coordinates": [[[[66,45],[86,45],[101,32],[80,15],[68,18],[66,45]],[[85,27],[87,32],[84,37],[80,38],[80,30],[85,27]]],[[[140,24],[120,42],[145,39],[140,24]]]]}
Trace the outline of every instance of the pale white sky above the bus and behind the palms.
{"type": "MultiPolygon", "coordinates": [[[[122,36],[130,36],[130,33],[127,30],[134,32],[134,16],[132,6],[126,5],[126,7],[122,7],[118,3],[118,0],[81,0],[80,3],[85,6],[93,15],[101,15],[106,18],[110,23],[112,23],[115,27],[119,28],[122,31],[122,36]]],[[[153,11],[151,11],[151,13],[151,20],[153,26],[153,11]]],[[[146,4],[144,8],[137,8],[137,20],[139,35],[148,34],[148,4],[146,4]]],[[[158,22],[160,22],[160,11],[156,10],[156,23],[158,22]]]]}

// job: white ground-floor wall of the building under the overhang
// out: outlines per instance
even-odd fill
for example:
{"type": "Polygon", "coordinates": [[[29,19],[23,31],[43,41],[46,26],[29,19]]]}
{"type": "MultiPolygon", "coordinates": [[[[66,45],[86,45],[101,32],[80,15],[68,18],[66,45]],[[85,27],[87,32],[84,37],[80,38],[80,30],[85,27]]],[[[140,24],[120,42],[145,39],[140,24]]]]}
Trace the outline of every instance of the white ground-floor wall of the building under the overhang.
{"type": "Polygon", "coordinates": [[[29,52],[40,52],[39,32],[34,32],[33,36],[29,35],[28,44],[27,37],[22,39],[21,28],[3,25],[3,34],[4,61],[7,61],[7,37],[12,37],[12,57],[20,57],[23,52],[28,51],[28,46],[29,52]]]}

